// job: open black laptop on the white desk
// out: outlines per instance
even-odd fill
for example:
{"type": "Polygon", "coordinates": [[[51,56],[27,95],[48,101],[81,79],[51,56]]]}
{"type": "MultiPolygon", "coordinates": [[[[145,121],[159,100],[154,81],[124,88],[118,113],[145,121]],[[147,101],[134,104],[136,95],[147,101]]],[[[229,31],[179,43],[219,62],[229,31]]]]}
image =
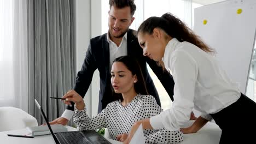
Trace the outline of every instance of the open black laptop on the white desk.
{"type": "Polygon", "coordinates": [[[77,143],[77,144],[111,144],[108,140],[106,140],[103,136],[98,134],[95,130],[83,130],[83,131],[66,131],[61,133],[53,133],[51,129],[51,125],[49,124],[48,119],[46,118],[42,107],[39,105],[36,99],[34,99],[38,109],[40,109],[41,114],[44,117],[46,124],[51,132],[51,135],[54,138],[56,144],[68,144],[68,143],[77,143]]]}

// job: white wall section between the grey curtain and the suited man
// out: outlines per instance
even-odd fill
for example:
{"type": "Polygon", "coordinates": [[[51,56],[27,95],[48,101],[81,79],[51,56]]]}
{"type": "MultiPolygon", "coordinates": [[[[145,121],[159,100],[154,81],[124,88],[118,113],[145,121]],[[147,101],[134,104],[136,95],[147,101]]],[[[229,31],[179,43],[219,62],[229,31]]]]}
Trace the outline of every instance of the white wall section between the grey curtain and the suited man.
{"type": "MultiPolygon", "coordinates": [[[[77,72],[81,69],[90,39],[101,35],[101,0],[76,1],[76,38],[77,38],[77,72]]],[[[100,77],[95,71],[85,97],[85,105],[89,116],[97,115],[100,77]]]]}

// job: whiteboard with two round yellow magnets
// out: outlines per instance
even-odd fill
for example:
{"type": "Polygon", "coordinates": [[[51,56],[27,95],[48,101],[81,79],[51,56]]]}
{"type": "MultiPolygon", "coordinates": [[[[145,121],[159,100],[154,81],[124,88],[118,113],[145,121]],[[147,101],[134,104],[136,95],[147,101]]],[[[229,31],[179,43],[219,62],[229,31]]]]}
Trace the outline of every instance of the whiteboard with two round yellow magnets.
{"type": "Polygon", "coordinates": [[[231,0],[196,8],[194,31],[217,51],[219,63],[245,93],[256,31],[256,1],[231,0]]]}

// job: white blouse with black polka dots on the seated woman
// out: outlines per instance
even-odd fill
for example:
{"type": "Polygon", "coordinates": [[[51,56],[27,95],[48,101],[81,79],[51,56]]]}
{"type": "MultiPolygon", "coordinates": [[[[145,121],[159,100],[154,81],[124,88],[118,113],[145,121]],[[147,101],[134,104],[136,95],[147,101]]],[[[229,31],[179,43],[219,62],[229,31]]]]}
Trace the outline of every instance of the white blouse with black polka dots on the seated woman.
{"type": "MultiPolygon", "coordinates": [[[[118,100],[109,103],[106,109],[92,118],[86,114],[86,107],[80,111],[75,109],[74,123],[78,130],[108,128],[110,138],[117,140],[117,135],[129,133],[134,122],[158,115],[161,111],[161,107],[156,104],[152,95],[138,94],[126,106],[121,105],[118,100]]],[[[183,141],[181,131],[150,129],[144,130],[144,135],[146,143],[178,143],[183,141]]]]}

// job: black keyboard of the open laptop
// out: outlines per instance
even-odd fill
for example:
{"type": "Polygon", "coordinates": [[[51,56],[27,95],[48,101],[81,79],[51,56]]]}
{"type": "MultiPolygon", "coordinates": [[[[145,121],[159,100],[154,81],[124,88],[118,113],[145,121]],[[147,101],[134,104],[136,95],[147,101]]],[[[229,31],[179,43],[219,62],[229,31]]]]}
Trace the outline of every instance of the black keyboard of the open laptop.
{"type": "Polygon", "coordinates": [[[88,141],[81,133],[62,133],[62,137],[68,142],[72,144],[92,144],[88,141]]]}

